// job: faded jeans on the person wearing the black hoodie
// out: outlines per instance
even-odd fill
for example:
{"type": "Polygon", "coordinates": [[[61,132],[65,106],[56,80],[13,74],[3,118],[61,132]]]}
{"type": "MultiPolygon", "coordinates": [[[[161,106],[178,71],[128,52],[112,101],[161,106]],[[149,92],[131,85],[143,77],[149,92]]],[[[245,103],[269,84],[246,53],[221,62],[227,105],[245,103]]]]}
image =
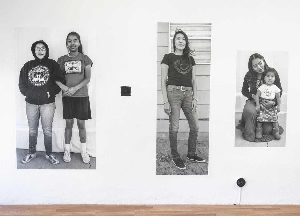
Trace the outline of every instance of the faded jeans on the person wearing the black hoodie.
{"type": "Polygon", "coordinates": [[[52,122],[54,111],[55,102],[44,105],[35,105],[26,102],[26,116],[29,126],[29,153],[34,154],[36,151],[40,116],[44,133],[46,155],[52,153],[52,122]]]}

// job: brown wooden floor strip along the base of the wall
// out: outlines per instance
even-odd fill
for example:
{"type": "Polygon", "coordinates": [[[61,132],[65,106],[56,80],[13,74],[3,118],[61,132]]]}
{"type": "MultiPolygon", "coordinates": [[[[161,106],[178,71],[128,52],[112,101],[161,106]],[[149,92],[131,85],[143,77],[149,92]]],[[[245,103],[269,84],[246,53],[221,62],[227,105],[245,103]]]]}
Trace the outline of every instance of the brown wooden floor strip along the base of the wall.
{"type": "Polygon", "coordinates": [[[300,205],[0,205],[0,215],[300,216],[300,205]]]}

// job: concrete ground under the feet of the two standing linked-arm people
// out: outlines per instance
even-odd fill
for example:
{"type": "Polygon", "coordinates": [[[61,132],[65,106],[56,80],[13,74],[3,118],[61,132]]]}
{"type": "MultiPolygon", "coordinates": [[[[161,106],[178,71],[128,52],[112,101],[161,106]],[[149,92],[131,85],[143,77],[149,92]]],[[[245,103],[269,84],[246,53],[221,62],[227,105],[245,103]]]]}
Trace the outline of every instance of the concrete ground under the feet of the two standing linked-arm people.
{"type": "Polygon", "coordinates": [[[58,158],[58,164],[52,164],[46,157],[46,152],[36,151],[37,156],[24,164],[21,160],[28,155],[28,149],[17,149],[17,169],[29,170],[96,170],[96,158],[90,157],[89,163],[84,163],[81,153],[71,152],[71,161],[64,162],[64,152],[53,153],[58,158]]]}

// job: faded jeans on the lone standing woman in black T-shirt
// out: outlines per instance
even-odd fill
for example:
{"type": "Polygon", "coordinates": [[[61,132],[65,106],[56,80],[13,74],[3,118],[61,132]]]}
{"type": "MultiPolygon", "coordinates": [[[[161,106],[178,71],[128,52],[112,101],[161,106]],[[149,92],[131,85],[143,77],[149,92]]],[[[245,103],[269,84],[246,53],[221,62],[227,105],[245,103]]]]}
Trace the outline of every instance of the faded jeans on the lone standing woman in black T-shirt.
{"type": "Polygon", "coordinates": [[[169,116],[170,127],[170,149],[172,158],[180,158],[177,151],[177,133],[179,128],[180,108],[187,118],[190,126],[190,134],[187,143],[187,155],[192,157],[196,153],[196,142],[199,132],[199,122],[197,112],[192,113],[193,91],[181,91],[174,88],[167,88],[168,101],[171,106],[171,115],[169,116]]]}

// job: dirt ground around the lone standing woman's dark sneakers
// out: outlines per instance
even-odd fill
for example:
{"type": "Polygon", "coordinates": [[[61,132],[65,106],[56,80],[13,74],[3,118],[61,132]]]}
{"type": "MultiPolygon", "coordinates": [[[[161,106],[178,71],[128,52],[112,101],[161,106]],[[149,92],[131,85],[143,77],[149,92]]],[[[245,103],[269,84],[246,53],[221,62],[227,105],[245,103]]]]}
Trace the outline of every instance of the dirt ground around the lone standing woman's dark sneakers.
{"type": "Polygon", "coordinates": [[[187,140],[179,140],[178,152],[186,165],[185,170],[179,170],[172,162],[169,140],[157,139],[156,145],[156,175],[208,175],[208,142],[198,142],[196,154],[204,158],[204,163],[187,159],[187,140]]]}

